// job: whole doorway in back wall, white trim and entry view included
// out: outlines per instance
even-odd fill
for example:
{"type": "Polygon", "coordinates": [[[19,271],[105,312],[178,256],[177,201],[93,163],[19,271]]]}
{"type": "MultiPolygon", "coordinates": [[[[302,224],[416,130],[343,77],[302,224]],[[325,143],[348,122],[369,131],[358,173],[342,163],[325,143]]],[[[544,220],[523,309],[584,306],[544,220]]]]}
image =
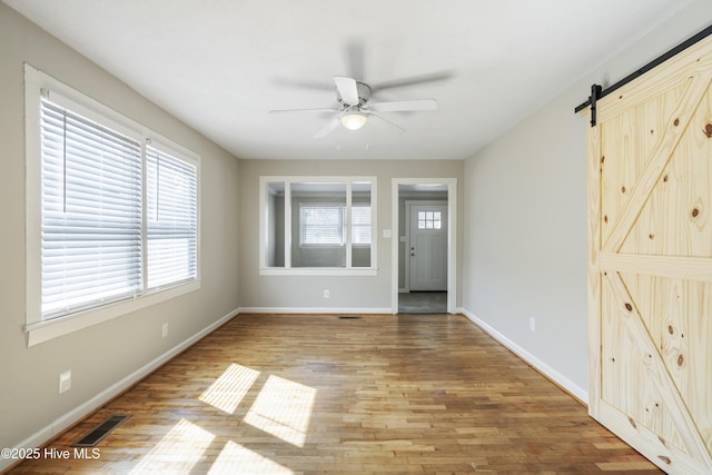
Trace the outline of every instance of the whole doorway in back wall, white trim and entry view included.
{"type": "Polygon", "coordinates": [[[393,179],[394,314],[456,309],[456,185],[447,179],[393,179]]]}

